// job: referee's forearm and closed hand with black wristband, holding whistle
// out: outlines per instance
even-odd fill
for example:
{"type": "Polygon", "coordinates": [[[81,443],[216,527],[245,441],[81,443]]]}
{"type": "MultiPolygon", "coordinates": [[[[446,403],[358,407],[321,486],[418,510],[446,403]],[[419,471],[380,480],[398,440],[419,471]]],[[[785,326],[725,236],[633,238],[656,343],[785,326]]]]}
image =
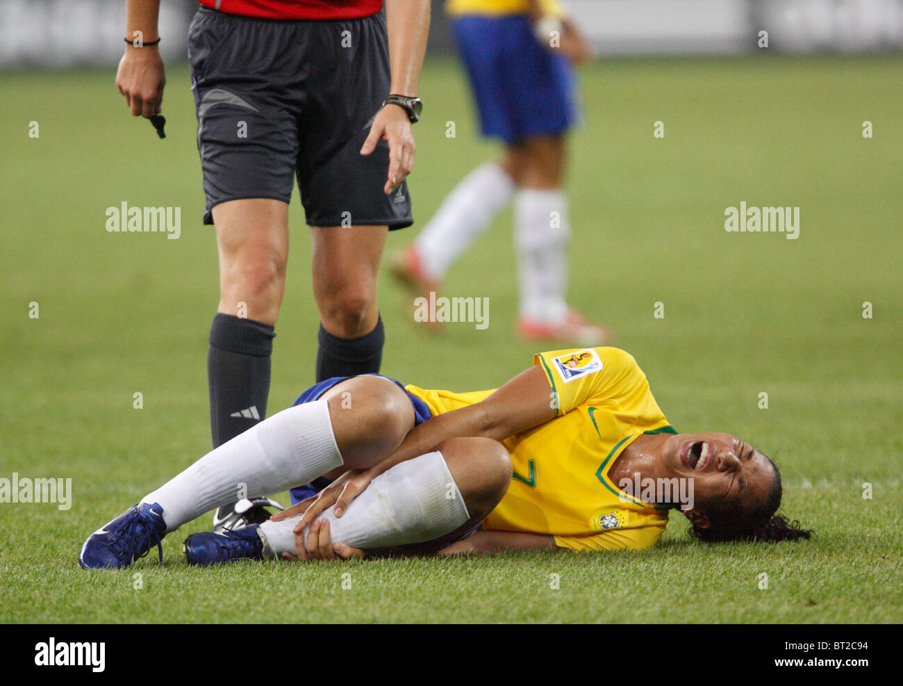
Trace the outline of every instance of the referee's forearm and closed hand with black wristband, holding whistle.
{"type": "Polygon", "coordinates": [[[157,29],[159,14],[160,0],[128,0],[125,37],[134,44],[126,43],[126,53],[116,72],[116,88],[126,97],[132,115],[146,119],[160,111],[166,84],[159,49],[156,45],[144,44],[160,37],[157,29]]]}

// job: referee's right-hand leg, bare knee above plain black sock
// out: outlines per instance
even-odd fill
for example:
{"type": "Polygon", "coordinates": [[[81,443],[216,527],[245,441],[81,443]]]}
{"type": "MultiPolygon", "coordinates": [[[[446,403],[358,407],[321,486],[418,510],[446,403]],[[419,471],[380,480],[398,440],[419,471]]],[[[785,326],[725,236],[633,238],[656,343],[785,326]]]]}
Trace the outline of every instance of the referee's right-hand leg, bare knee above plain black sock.
{"type": "Polygon", "coordinates": [[[311,227],[313,296],[320,311],[317,381],[379,371],[386,335],[377,274],[386,226],[311,227]]]}

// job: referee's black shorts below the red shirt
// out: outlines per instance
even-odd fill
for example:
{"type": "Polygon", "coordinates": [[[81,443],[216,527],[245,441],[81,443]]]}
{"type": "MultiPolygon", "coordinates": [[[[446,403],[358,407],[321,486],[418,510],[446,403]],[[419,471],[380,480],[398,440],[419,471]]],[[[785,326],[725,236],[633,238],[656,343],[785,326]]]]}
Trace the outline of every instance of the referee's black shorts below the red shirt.
{"type": "Polygon", "coordinates": [[[297,174],[311,226],[413,223],[407,183],[383,193],[389,148],[367,157],[390,75],[382,13],[279,21],[200,7],[188,33],[207,205],[289,202],[297,174]]]}

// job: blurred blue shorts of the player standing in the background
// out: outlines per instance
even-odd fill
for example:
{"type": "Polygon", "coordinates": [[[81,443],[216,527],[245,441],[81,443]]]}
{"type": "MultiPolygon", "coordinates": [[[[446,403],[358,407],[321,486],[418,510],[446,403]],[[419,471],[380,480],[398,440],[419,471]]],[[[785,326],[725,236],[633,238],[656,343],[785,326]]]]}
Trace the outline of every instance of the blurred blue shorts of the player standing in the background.
{"type": "Polygon", "coordinates": [[[516,143],[580,119],[573,67],[540,44],[529,17],[464,14],[453,26],[484,136],[516,143]]]}

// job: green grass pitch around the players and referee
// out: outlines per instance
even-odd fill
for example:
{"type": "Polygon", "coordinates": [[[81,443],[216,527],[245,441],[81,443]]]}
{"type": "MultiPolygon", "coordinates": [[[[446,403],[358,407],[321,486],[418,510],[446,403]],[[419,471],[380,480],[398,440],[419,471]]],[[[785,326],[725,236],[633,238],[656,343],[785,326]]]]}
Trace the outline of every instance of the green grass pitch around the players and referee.
{"type": "MultiPolygon", "coordinates": [[[[168,79],[160,141],[127,114],[112,70],[0,74],[0,477],[69,477],[73,490],[68,511],[0,504],[0,622],[903,621],[898,58],[582,69],[573,304],[611,326],[678,430],[731,431],[773,457],[784,512],[815,540],[709,547],[672,516],[663,543],[642,552],[189,569],[183,534],[205,529],[205,516],[164,540],[163,567],[154,551],[133,569],[87,573],[76,557],[88,533],[209,449],[216,243],[200,224],[187,69],[172,66],[168,79]],[[873,138],[861,134],[865,120],[873,138]],[[123,201],[182,207],[182,237],[108,233],[106,208],[123,201]],[[726,232],[724,210],[740,201],[799,206],[799,238],[726,232]],[[133,409],[136,391],[143,409],[133,409]]],[[[417,225],[388,250],[495,150],[475,136],[455,62],[428,61],[422,95],[417,225]],[[445,137],[447,121],[457,137],[445,137]]],[[[313,378],[317,319],[297,201],[271,411],[313,378]]],[[[385,275],[384,373],[472,390],[532,362],[533,347],[513,335],[510,224],[507,212],[447,283],[448,295],[489,296],[486,331],[426,334],[385,275]]]]}

